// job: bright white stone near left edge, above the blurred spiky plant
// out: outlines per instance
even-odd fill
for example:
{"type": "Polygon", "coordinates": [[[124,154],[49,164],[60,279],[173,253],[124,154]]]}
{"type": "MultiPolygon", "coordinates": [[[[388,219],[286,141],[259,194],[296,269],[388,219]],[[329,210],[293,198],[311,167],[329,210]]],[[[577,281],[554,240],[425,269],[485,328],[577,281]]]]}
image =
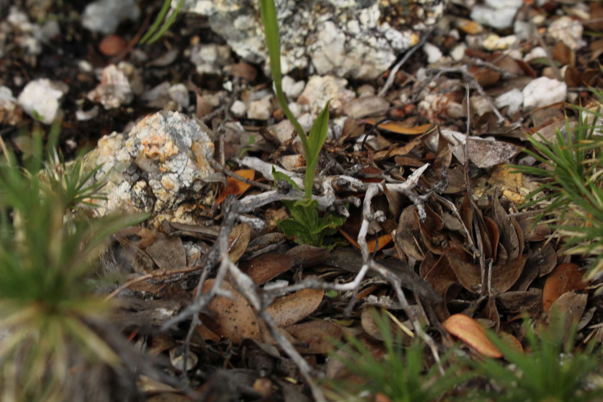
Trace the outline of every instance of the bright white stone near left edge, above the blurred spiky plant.
{"type": "Polygon", "coordinates": [[[57,118],[60,99],[69,87],[65,83],[54,83],[47,78],[30,81],[19,94],[19,104],[25,113],[44,124],[57,118]]]}

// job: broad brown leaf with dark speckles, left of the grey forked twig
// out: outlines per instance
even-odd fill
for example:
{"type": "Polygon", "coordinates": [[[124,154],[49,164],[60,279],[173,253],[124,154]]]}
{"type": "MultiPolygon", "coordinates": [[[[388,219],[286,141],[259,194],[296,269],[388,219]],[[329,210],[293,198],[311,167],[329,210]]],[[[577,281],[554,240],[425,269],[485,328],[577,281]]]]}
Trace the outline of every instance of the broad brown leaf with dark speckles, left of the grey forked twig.
{"type": "MultiPolygon", "coordinates": [[[[203,294],[209,292],[214,283],[215,279],[206,280],[203,283],[203,294]]],[[[221,289],[229,291],[233,299],[222,296],[213,298],[207,306],[211,316],[202,321],[210,330],[230,341],[240,343],[244,338],[259,340],[256,315],[247,300],[227,282],[222,283],[221,289]]]]}

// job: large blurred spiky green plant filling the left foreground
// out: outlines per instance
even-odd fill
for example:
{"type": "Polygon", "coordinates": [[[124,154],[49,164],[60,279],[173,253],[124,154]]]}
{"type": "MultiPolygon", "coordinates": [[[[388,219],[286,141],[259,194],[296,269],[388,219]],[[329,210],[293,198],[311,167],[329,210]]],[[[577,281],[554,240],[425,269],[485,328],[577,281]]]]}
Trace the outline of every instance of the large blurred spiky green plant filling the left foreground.
{"type": "Polygon", "coordinates": [[[116,353],[89,325],[109,306],[90,295],[86,280],[103,240],[147,218],[90,220],[75,207],[98,196],[99,186],[83,184],[81,161],[63,164],[62,175],[48,177],[41,136],[33,143],[23,168],[13,155],[0,165],[2,401],[69,400],[72,369],[119,365],[116,353]],[[84,366],[74,367],[78,363],[84,366]]]}

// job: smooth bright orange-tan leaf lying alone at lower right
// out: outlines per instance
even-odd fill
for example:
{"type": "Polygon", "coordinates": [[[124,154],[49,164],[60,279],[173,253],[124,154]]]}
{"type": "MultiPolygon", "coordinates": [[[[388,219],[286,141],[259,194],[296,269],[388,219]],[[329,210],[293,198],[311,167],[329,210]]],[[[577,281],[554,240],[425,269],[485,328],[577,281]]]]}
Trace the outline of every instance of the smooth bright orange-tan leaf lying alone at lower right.
{"type": "Polygon", "coordinates": [[[499,348],[488,339],[484,328],[470,316],[453,314],[442,322],[442,326],[450,334],[473,347],[478,353],[494,359],[502,357],[499,348]]]}

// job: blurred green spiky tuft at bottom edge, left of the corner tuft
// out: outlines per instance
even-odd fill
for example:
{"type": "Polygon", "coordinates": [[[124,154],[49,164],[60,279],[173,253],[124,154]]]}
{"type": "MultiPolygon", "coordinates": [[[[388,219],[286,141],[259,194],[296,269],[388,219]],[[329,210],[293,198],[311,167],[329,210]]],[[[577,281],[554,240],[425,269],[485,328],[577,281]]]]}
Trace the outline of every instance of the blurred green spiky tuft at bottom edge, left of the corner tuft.
{"type": "MultiPolygon", "coordinates": [[[[392,402],[434,401],[468,378],[467,374],[456,374],[451,367],[440,375],[437,365],[426,369],[424,345],[415,338],[409,347],[403,347],[402,331],[392,333],[389,318],[374,315],[385,347],[383,359],[373,353],[357,338],[349,337],[345,347],[347,356],[332,354],[330,359],[339,359],[349,371],[366,382],[326,382],[326,394],[332,400],[364,400],[364,397],[383,394],[392,402]],[[367,395],[368,394],[368,395],[367,395]]],[[[344,347],[337,343],[339,348],[344,347]]]]}

